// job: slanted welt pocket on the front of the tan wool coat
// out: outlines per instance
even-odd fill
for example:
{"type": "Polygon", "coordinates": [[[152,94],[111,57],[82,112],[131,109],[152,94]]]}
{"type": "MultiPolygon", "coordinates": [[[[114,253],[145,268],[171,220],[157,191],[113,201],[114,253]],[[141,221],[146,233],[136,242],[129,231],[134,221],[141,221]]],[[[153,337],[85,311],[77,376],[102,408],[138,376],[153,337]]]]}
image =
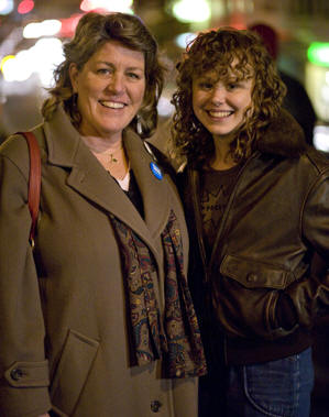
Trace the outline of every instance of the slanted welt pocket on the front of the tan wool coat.
{"type": "Polygon", "coordinates": [[[51,386],[54,409],[70,415],[87,381],[99,342],[69,330],[51,386]]]}

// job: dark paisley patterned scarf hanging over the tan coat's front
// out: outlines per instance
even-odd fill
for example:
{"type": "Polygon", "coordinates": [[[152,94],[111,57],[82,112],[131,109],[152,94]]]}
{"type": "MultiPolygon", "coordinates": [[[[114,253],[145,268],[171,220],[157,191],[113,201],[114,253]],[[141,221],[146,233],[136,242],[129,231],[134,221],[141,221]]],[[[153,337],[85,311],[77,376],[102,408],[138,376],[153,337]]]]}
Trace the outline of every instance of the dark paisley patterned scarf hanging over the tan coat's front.
{"type": "Polygon", "coordinates": [[[121,251],[132,329],[134,362],[162,358],[165,377],[200,376],[206,360],[198,321],[183,270],[183,244],[174,211],[162,233],[165,263],[165,312],[154,282],[157,272],[149,248],[124,223],[111,217],[121,251]]]}

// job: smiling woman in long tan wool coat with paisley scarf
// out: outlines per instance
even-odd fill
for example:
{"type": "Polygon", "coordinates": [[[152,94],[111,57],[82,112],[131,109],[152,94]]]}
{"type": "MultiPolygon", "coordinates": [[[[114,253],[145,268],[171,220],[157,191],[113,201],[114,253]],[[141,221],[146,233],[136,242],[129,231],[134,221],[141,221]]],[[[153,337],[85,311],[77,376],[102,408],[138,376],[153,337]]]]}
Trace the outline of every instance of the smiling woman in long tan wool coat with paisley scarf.
{"type": "Polygon", "coordinates": [[[34,252],[26,145],[1,149],[0,415],[196,416],[183,209],[140,138],[156,127],[156,43],[136,17],[89,13],[64,52],[33,129],[34,252]]]}

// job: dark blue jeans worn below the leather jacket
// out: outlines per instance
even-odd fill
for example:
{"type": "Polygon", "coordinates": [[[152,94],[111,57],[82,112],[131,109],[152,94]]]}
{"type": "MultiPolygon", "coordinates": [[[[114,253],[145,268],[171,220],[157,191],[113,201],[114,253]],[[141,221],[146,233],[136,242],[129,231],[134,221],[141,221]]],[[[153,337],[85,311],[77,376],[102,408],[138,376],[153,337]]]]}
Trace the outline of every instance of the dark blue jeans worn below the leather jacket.
{"type": "Polygon", "coordinates": [[[311,349],[276,361],[229,366],[200,378],[199,417],[308,417],[311,349]]]}

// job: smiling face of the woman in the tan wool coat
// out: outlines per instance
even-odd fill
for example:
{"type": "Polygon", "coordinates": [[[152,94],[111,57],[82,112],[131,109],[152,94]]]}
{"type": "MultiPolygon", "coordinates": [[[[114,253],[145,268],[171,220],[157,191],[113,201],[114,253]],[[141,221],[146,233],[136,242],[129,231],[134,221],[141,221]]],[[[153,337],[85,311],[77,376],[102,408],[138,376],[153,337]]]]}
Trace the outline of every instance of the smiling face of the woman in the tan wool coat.
{"type": "Polygon", "coordinates": [[[142,106],[145,94],[145,59],[142,52],[118,42],[105,43],[78,70],[69,68],[81,114],[85,136],[120,140],[122,130],[142,106]]]}

